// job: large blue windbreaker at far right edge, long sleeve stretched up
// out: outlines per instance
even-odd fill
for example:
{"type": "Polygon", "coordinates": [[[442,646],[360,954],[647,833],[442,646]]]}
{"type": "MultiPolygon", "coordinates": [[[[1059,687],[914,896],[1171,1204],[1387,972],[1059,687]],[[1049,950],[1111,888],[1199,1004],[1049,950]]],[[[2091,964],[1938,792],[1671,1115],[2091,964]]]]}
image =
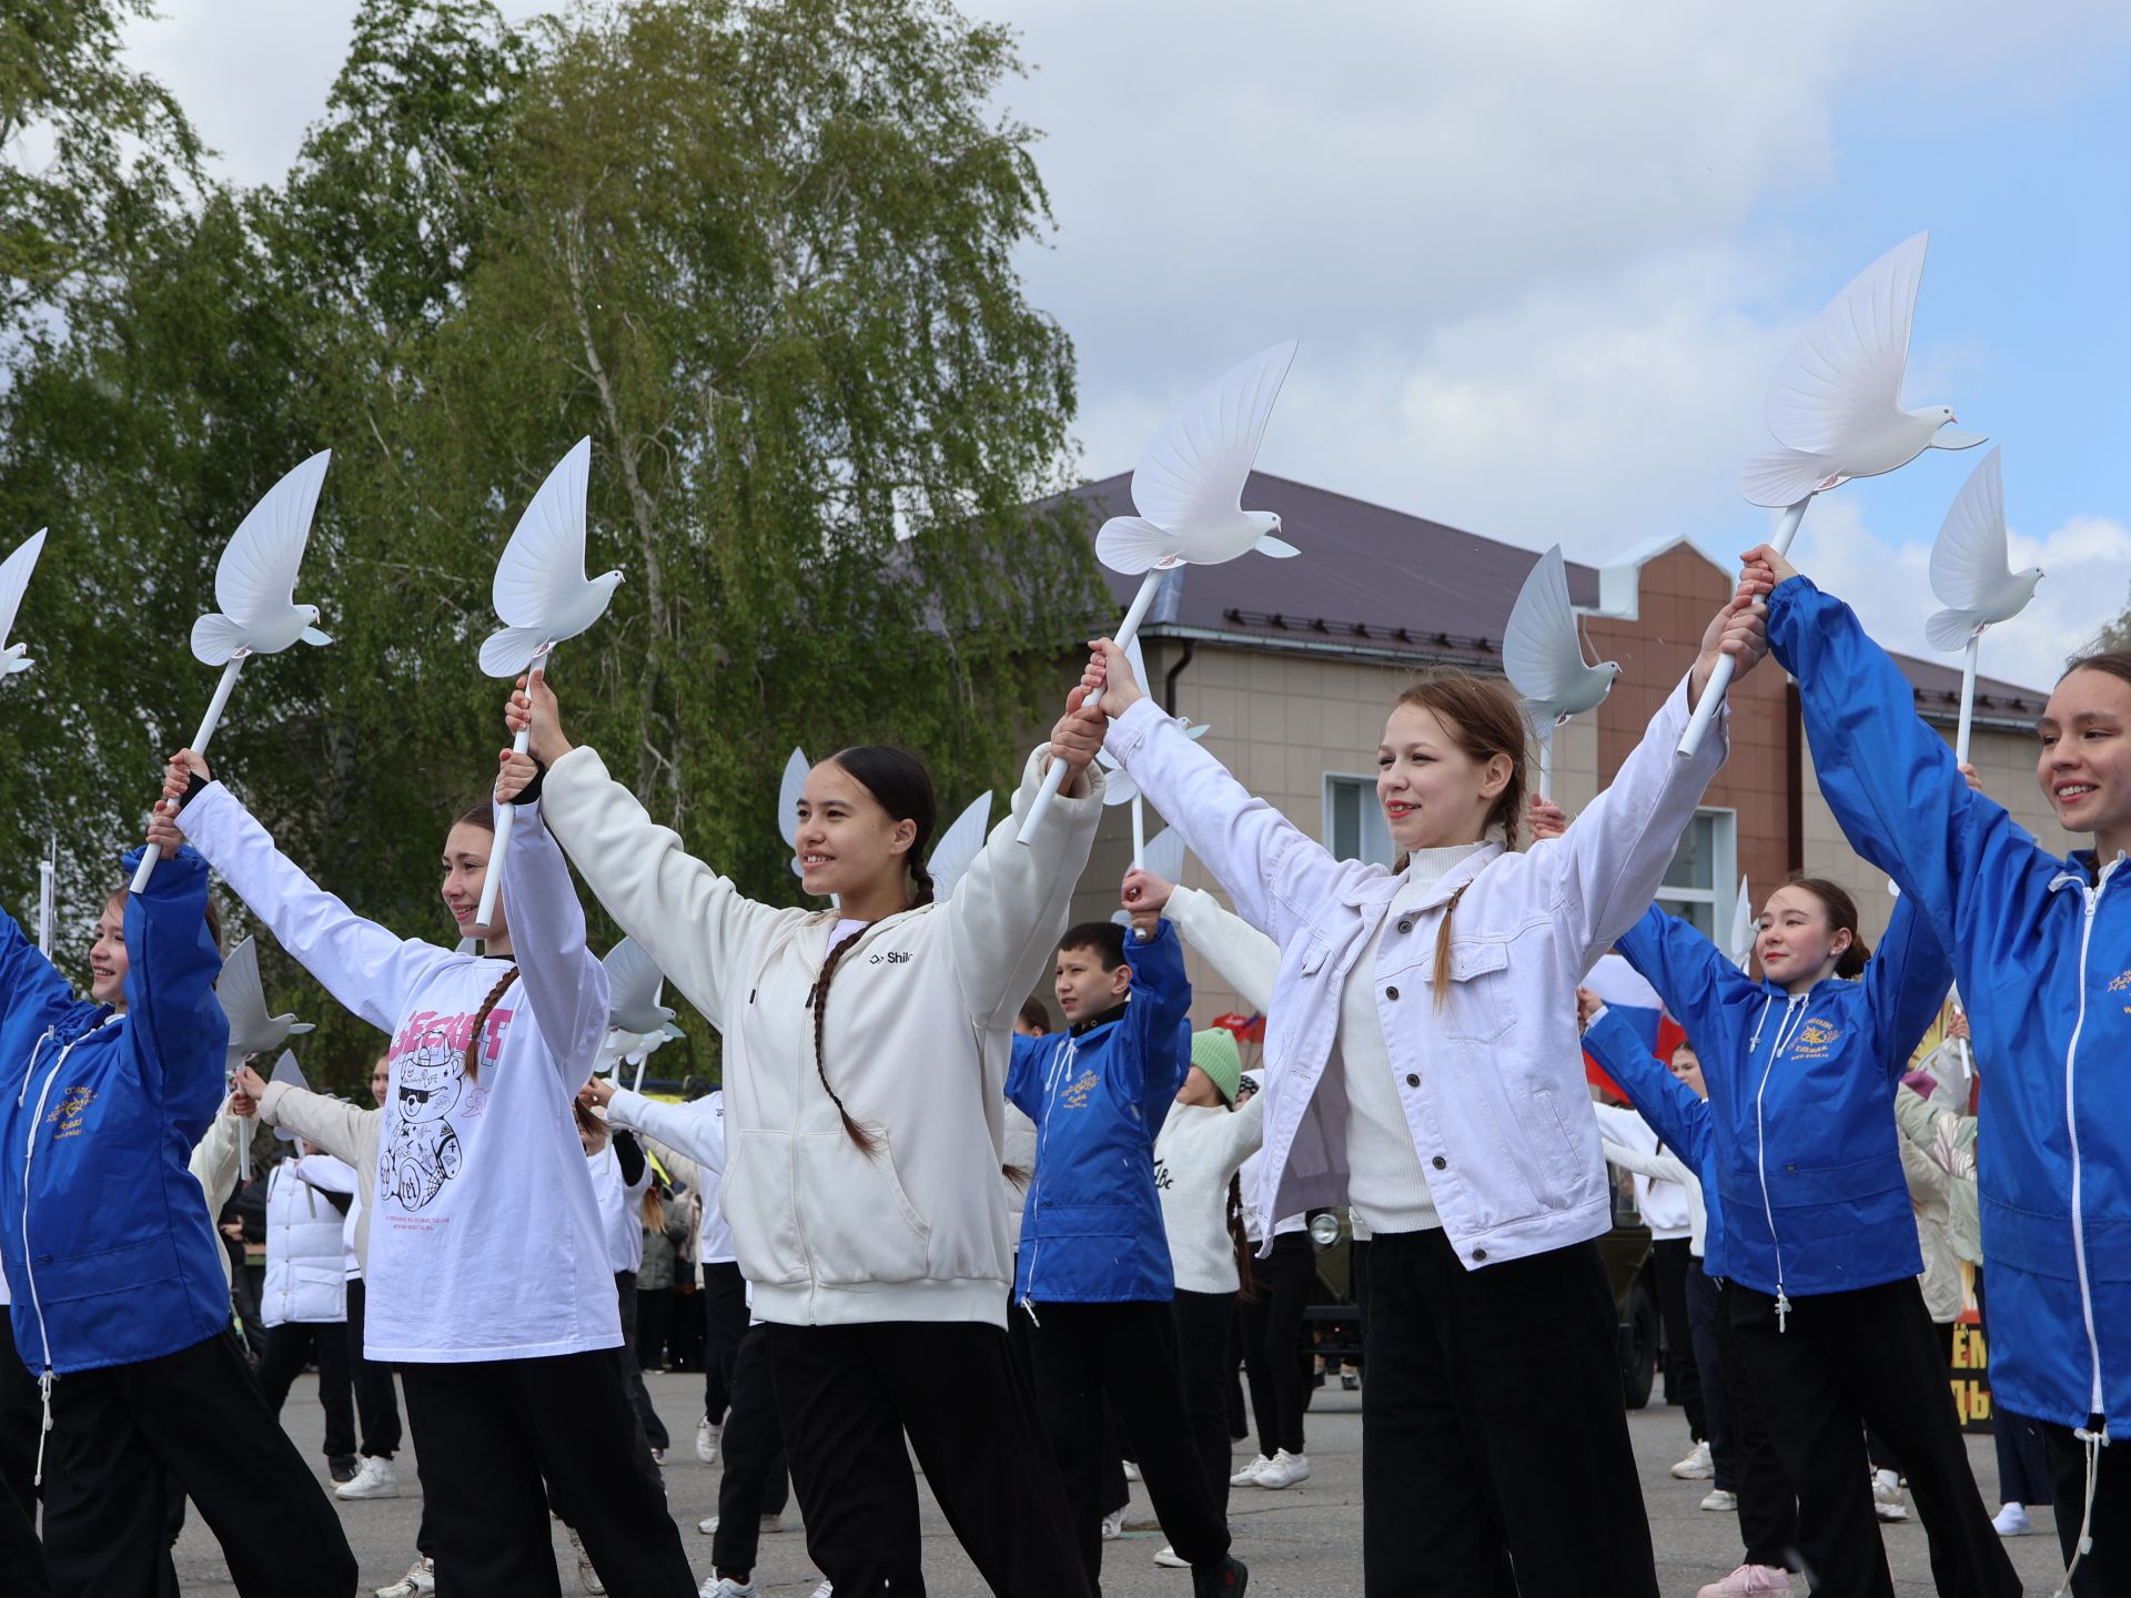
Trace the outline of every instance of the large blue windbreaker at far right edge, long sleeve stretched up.
{"type": "Polygon", "coordinates": [[[2016,1415],[2131,1421],[2131,871],[2056,859],[1961,780],[1839,599],[1794,577],[1769,643],[1828,808],[1954,950],[1982,1082],[1990,1385],[2016,1415]]]}

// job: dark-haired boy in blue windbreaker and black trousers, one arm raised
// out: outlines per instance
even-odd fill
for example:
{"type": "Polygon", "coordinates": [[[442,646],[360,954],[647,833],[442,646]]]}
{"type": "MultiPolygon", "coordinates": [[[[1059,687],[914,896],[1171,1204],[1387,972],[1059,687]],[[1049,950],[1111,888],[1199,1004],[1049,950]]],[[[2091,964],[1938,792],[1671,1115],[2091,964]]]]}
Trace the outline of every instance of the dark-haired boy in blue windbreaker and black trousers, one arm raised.
{"type": "Polygon", "coordinates": [[[1036,1123],[1014,1298],[1031,1321],[1038,1413],[1051,1434],[1089,1587],[1102,1587],[1104,1396],[1132,1432],[1140,1481],[1198,1594],[1236,1596],[1227,1521],[1185,1415],[1155,1191],[1155,1134],[1191,1067],[1191,982],[1168,920],[1151,937],[1093,920],[1059,942],[1066,1033],[1014,1038],[1006,1097],[1036,1123]]]}

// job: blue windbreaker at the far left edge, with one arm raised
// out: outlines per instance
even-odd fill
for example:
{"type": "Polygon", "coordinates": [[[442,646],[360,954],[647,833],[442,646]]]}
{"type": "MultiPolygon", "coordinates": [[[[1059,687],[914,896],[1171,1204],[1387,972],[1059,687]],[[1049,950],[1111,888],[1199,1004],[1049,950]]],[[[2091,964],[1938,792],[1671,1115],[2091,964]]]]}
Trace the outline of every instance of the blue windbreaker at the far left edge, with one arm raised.
{"type": "MultiPolygon", "coordinates": [[[[126,854],[132,874],[139,850],[126,854]]],[[[222,955],[190,848],[126,897],[126,1014],[77,999],[0,912],[0,1259],[30,1370],[128,1366],[230,1323],[185,1170],[224,1097],[222,955]]]]}

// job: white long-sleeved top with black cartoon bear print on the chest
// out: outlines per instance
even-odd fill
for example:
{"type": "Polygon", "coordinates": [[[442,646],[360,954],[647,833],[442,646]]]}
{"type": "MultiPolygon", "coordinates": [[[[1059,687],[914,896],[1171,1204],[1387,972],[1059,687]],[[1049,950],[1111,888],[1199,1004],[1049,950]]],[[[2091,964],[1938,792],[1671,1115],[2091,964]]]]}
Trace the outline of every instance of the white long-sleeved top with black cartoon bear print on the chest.
{"type": "Polygon", "coordinates": [[[607,1036],[607,974],[584,946],[584,908],[539,805],[518,808],[501,861],[522,976],[488,1014],[473,1082],[462,1063],[473,1018],[509,961],[401,940],[354,914],[219,782],[179,827],[341,1006],[392,1038],[364,1217],[364,1355],[452,1364],[620,1347],[571,1112],[607,1036]]]}

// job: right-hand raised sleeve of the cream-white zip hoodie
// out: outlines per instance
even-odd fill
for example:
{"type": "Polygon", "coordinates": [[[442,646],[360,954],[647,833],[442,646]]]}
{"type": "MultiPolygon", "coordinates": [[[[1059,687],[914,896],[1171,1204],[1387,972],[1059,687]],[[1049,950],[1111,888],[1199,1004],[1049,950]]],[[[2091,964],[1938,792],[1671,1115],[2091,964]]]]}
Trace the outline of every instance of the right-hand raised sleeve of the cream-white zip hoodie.
{"type": "Polygon", "coordinates": [[[1089,763],[1074,790],[1053,801],[1051,825],[1023,844],[1021,818],[1036,803],[1042,771],[1038,748],[1023,767],[1012,814],[991,829],[942,912],[963,1004],[985,1027],[1006,1025],[1042,976],[1102,822],[1102,767],[1089,763]]]}

